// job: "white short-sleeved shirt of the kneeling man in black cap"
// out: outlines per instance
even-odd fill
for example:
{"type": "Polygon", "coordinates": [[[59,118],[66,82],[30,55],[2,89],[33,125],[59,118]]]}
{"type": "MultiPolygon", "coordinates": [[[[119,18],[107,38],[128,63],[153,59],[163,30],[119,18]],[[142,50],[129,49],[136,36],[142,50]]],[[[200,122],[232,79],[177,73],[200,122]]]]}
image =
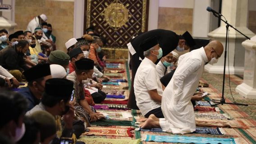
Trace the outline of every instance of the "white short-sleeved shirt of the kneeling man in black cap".
{"type": "Polygon", "coordinates": [[[142,60],[142,63],[137,69],[133,86],[137,106],[143,116],[152,109],[159,108],[161,106],[160,103],[151,99],[148,93],[149,90],[155,89],[159,95],[162,95],[163,93],[160,80],[156,74],[155,64],[150,59],[145,57],[142,60]]]}

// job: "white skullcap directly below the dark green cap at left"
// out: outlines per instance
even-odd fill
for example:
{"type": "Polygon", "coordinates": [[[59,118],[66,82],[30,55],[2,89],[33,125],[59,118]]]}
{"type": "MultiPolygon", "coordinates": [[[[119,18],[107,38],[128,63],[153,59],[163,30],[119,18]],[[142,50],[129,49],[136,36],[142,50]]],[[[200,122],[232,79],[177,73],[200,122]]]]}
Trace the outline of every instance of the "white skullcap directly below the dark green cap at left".
{"type": "Polygon", "coordinates": [[[51,64],[50,73],[52,78],[64,78],[65,76],[67,76],[65,68],[59,64],[51,64]]]}

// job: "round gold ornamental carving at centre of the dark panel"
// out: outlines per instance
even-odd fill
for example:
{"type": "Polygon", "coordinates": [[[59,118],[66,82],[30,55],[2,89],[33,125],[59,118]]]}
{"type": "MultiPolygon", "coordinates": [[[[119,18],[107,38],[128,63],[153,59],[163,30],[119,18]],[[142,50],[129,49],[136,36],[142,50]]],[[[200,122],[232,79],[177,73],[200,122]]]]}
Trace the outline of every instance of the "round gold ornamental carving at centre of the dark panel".
{"type": "Polygon", "coordinates": [[[111,27],[122,27],[128,21],[129,10],[123,4],[112,3],[105,8],[104,17],[111,27]]]}

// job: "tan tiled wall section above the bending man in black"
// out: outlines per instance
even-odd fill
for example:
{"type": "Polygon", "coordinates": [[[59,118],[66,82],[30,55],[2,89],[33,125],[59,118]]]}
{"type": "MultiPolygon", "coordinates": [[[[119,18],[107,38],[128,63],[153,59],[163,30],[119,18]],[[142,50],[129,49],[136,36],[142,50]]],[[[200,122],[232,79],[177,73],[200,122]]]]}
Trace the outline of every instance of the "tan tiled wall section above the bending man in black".
{"type": "Polygon", "coordinates": [[[158,28],[183,34],[188,31],[192,34],[193,9],[159,7],[158,28]]]}

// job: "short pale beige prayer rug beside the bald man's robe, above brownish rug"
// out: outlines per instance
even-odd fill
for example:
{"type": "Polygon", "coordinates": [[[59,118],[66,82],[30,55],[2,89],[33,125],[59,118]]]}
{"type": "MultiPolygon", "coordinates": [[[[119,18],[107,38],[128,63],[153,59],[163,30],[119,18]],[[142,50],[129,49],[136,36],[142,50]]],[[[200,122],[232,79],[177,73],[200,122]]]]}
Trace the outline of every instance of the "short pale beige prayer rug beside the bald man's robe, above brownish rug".
{"type": "Polygon", "coordinates": [[[230,119],[230,117],[227,114],[222,114],[222,113],[204,113],[204,112],[195,112],[195,117],[197,119],[200,118],[206,118],[206,119],[219,119],[219,120],[225,120],[225,119],[230,119]]]}

